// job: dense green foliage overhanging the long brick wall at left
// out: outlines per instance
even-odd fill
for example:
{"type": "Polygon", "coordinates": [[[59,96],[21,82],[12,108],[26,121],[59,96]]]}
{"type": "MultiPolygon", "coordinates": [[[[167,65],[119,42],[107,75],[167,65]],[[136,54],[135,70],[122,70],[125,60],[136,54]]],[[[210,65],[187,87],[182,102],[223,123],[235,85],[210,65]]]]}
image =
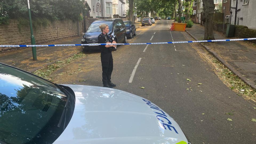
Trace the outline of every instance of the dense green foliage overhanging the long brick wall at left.
{"type": "MultiPolygon", "coordinates": [[[[81,20],[80,14],[84,10],[83,2],[84,0],[30,0],[31,17],[32,19],[81,20]]],[[[7,23],[8,19],[27,17],[27,0],[0,1],[0,24],[7,23]]],[[[43,26],[48,24],[47,21],[42,22],[43,26]]]]}

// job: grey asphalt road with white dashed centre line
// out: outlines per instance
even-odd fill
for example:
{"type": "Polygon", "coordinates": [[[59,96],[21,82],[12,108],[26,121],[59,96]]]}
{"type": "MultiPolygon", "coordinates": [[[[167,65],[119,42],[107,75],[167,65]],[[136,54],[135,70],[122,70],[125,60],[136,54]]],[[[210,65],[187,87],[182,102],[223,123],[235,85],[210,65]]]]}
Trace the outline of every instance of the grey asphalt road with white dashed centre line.
{"type": "MultiPolygon", "coordinates": [[[[170,32],[170,24],[160,20],[140,27],[138,35],[128,42],[192,40],[186,32],[170,32]]],[[[123,45],[113,52],[113,59],[111,80],[117,84],[115,89],[154,102],[179,124],[192,143],[255,143],[256,123],[250,121],[256,119],[255,102],[238,96],[218,78],[200,45],[123,45]]],[[[93,51],[51,76],[59,84],[102,86],[101,74],[100,52],[93,51]]]]}

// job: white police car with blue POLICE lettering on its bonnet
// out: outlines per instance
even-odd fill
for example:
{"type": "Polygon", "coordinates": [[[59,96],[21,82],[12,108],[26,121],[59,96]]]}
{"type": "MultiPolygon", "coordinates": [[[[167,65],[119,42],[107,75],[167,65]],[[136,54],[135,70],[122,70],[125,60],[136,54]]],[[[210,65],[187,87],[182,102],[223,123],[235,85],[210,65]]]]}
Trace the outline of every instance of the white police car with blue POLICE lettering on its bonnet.
{"type": "Polygon", "coordinates": [[[0,143],[190,143],[154,103],[125,91],[57,85],[0,63],[0,143]]]}

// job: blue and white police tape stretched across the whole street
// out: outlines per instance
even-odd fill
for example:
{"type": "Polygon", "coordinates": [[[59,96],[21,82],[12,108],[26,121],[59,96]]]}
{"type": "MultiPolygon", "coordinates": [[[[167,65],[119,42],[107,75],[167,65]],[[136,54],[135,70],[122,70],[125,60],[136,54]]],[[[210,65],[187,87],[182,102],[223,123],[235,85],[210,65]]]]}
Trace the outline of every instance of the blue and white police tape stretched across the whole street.
{"type": "Polygon", "coordinates": [[[225,42],[225,41],[247,41],[256,38],[241,39],[218,39],[206,41],[183,41],[183,42],[153,42],[153,43],[89,43],[89,44],[70,44],[70,45],[0,45],[0,47],[46,47],[46,46],[99,46],[99,45],[147,45],[147,44],[166,44],[166,43],[191,43],[191,42],[225,42]]]}

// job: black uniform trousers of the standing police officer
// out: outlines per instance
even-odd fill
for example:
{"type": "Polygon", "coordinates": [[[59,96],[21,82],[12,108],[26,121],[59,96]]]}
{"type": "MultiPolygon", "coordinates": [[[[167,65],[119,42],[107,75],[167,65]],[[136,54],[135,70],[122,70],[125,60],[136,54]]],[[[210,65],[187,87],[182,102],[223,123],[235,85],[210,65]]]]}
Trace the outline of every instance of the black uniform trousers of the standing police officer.
{"type": "Polygon", "coordinates": [[[101,65],[102,65],[102,82],[103,85],[107,84],[111,79],[113,71],[113,57],[112,53],[101,53],[101,65]]]}

